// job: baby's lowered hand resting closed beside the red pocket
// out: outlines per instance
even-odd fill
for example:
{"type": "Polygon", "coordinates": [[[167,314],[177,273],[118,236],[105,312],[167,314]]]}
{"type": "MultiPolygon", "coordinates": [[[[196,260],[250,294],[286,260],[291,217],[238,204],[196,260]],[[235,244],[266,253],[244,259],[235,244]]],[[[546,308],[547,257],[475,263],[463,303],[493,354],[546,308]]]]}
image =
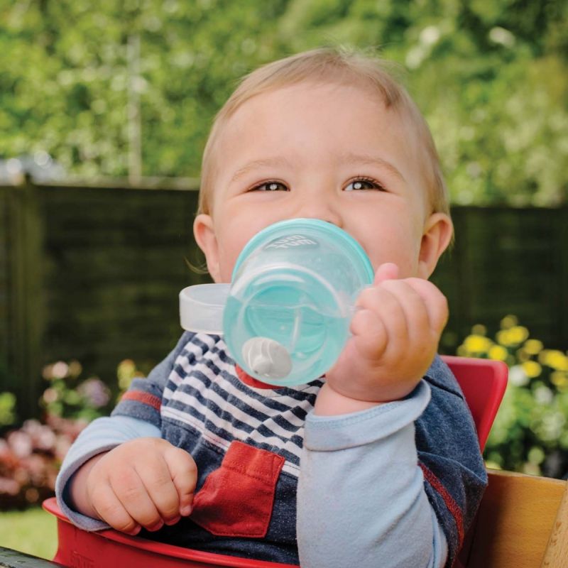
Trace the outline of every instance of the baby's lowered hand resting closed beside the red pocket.
{"type": "Polygon", "coordinates": [[[136,535],[189,515],[196,481],[190,454],[164,439],[138,438],[87,461],[71,496],[81,513],[136,535]]]}

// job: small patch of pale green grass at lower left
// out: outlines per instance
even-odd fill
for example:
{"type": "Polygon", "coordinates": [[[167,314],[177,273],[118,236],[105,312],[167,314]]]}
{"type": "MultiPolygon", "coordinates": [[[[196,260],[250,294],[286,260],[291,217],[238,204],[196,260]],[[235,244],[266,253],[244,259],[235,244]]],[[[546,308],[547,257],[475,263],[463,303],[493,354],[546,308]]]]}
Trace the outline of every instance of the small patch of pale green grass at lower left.
{"type": "Polygon", "coordinates": [[[55,517],[39,507],[0,512],[0,546],[52,559],[57,550],[55,517]]]}

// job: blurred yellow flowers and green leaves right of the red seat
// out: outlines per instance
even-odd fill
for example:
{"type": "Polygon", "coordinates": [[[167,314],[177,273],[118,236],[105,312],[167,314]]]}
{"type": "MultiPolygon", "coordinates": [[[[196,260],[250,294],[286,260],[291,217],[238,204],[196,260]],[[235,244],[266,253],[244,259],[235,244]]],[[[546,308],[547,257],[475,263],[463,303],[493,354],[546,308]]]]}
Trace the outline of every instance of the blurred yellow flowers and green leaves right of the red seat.
{"type": "Polygon", "coordinates": [[[489,466],[527,474],[568,474],[568,353],[545,349],[514,316],[494,339],[476,325],[458,355],[505,361],[509,382],[485,449],[489,466]]]}

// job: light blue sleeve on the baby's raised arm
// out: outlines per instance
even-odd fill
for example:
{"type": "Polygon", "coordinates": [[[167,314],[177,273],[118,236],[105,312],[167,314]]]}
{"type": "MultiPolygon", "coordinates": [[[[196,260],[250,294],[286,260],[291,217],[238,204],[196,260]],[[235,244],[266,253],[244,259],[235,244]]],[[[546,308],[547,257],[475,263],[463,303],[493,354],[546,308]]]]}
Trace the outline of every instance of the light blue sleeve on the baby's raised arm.
{"type": "Polygon", "coordinates": [[[405,400],[307,416],[297,493],[302,568],[444,566],[447,541],[414,439],[429,400],[422,381],[405,400]]]}

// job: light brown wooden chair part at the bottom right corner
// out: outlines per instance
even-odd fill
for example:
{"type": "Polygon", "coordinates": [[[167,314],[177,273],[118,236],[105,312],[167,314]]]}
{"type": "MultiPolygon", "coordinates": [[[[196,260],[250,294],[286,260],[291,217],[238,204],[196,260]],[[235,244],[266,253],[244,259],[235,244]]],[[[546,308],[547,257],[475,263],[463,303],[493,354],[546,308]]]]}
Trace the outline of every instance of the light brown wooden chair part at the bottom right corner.
{"type": "Polygon", "coordinates": [[[511,471],[488,478],[464,567],[568,567],[567,482],[511,471]]]}

